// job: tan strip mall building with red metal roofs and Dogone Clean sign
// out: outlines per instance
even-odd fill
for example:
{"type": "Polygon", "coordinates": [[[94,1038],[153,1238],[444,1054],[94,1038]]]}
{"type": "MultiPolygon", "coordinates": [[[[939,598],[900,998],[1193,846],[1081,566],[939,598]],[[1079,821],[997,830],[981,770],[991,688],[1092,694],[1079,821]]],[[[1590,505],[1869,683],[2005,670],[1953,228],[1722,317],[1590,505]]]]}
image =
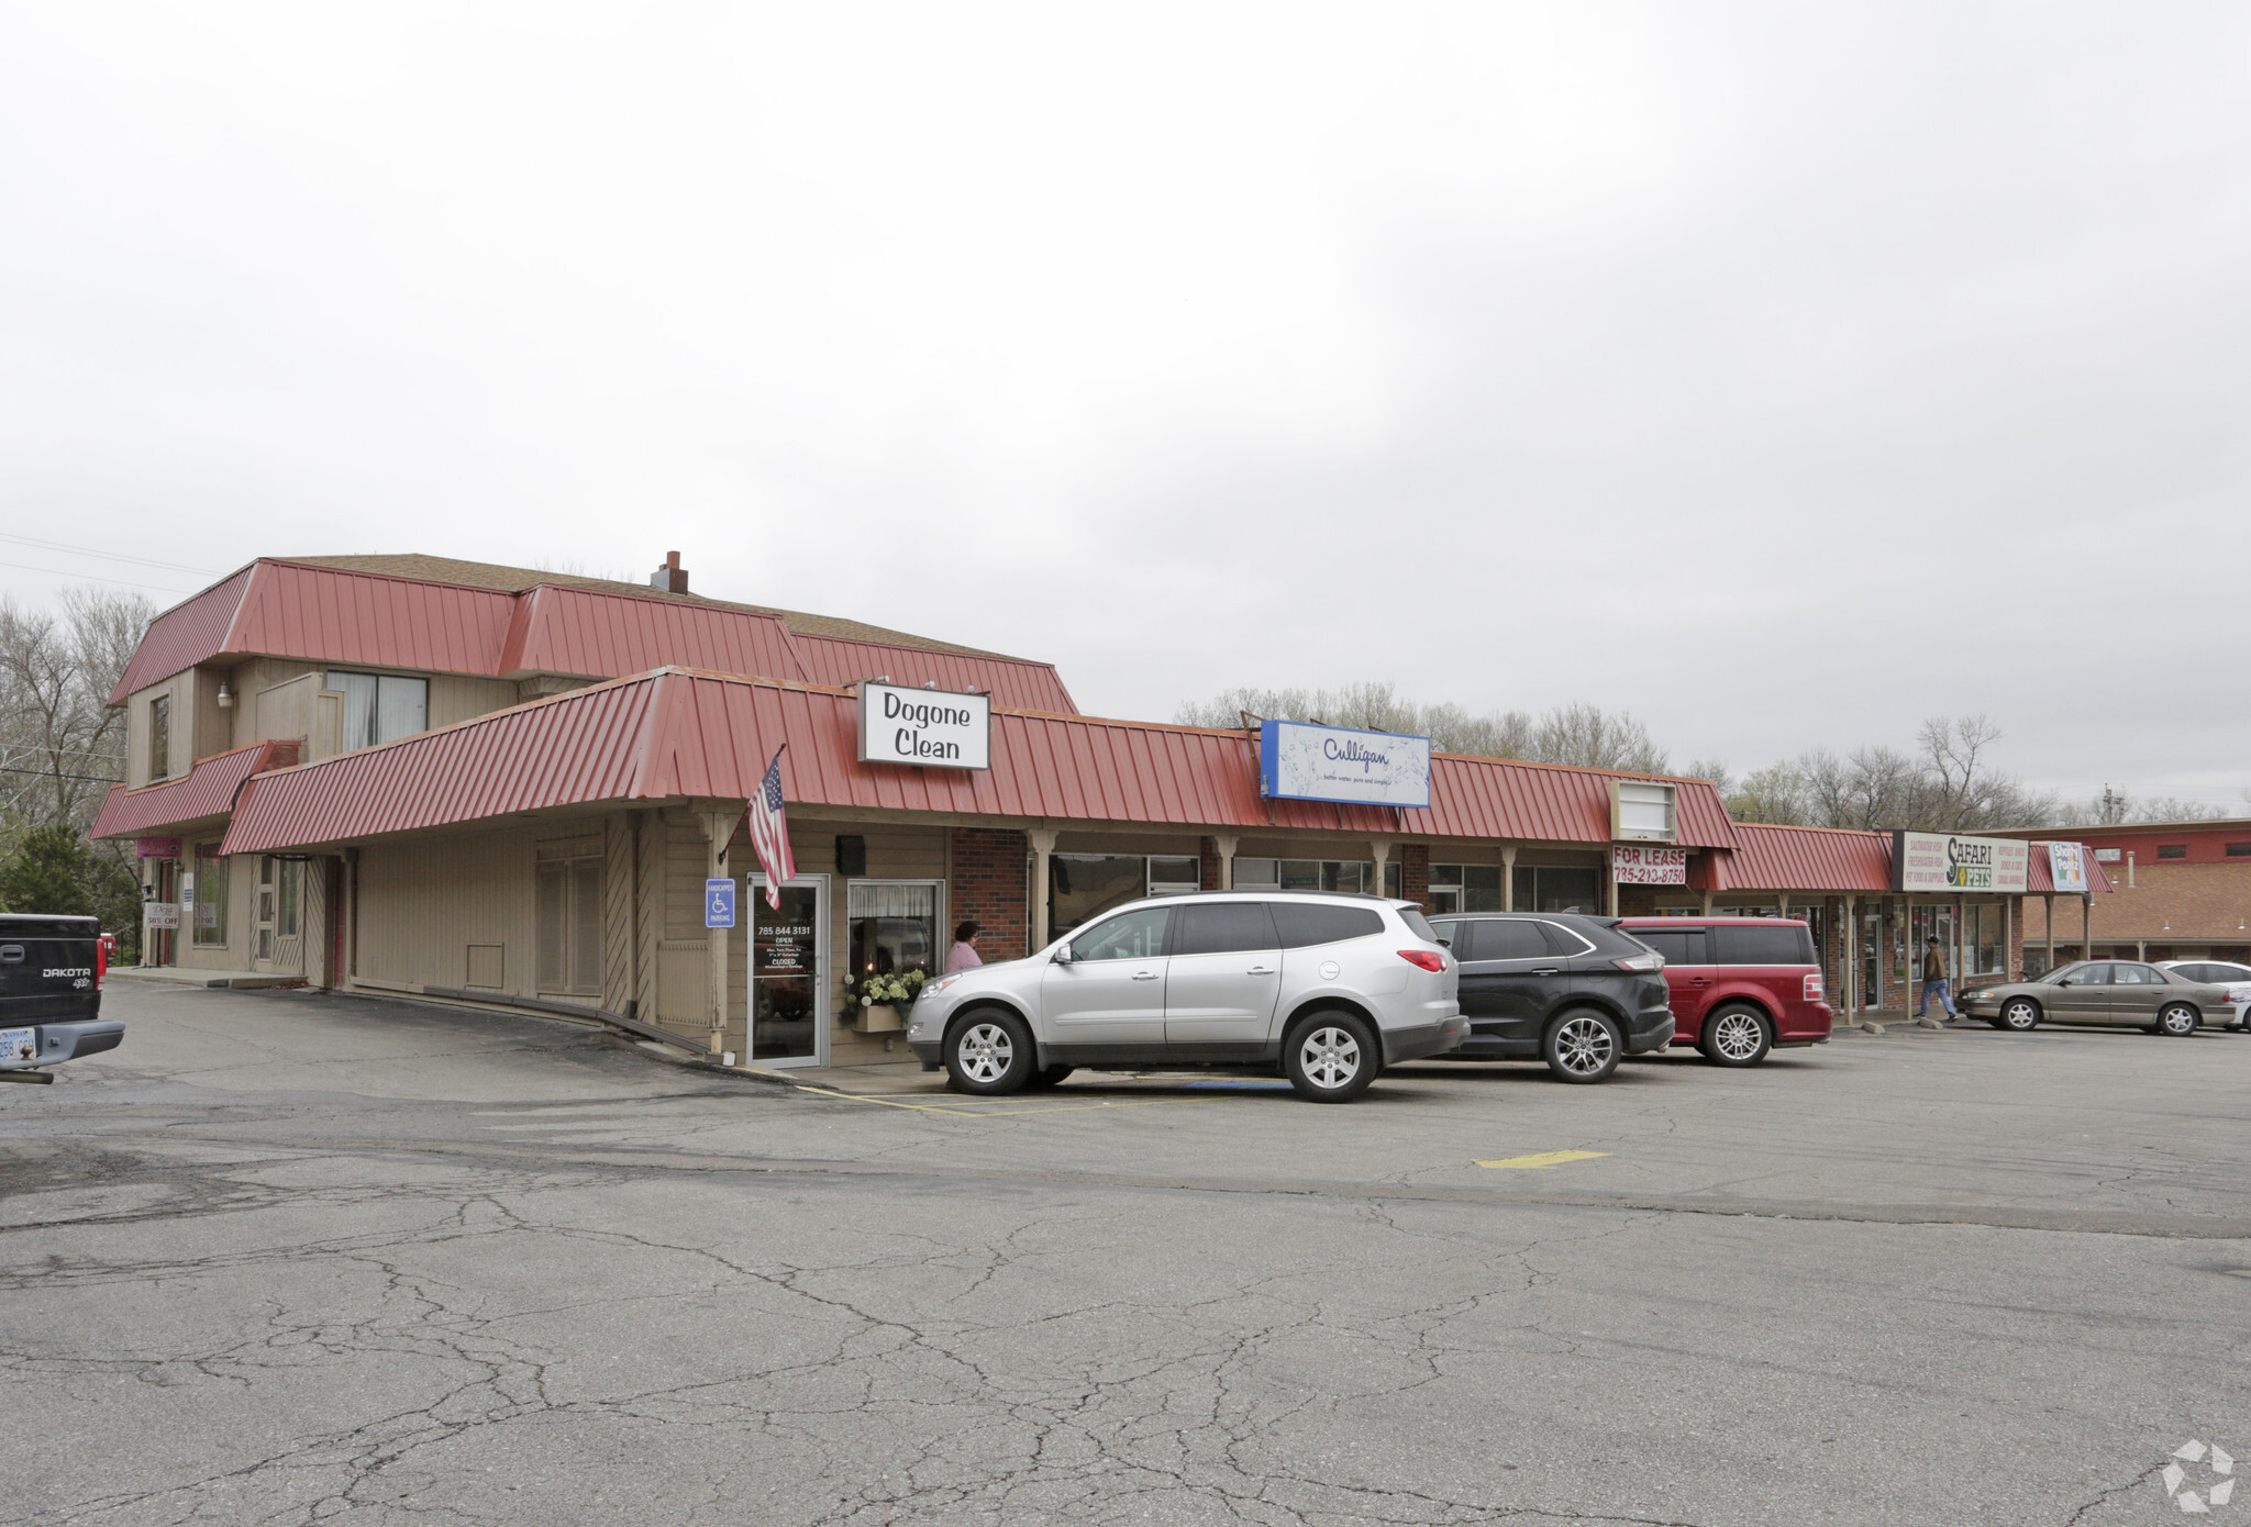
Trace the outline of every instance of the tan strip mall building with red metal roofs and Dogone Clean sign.
{"type": "Polygon", "coordinates": [[[1013,958],[1189,888],[1803,915],[1848,1008],[1898,1001],[1925,933],[1963,972],[2021,960],[2021,893],[1900,893],[1891,834],[1445,753],[1427,805],[1283,798],[1256,731],[1087,717],[1049,663],[702,598],[678,558],[653,587],[261,558],[158,616],[110,702],[131,762],[95,837],[140,846],[146,963],[599,1010],[741,1064],[880,1059],[898,1019],[846,983],[936,965],[957,920],[1013,958]],[[984,756],[905,729],[878,753],[916,762],[867,756],[862,702],[898,690],[972,711],[984,756]],[[797,875],[770,909],[743,821],[777,753],[797,875]]]}

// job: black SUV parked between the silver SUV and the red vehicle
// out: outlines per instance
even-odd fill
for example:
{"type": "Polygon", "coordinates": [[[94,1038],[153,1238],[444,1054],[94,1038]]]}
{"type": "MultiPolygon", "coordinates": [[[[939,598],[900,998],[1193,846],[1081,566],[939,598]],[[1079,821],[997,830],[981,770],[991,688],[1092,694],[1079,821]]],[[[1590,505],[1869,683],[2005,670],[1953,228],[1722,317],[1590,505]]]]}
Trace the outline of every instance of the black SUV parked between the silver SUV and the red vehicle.
{"type": "Polygon", "coordinates": [[[1616,918],[1450,913],[1429,924],[1461,965],[1470,1019],[1450,1061],[1537,1055],[1560,1082],[1603,1082],[1621,1055],[1672,1039],[1666,963],[1616,918]]]}

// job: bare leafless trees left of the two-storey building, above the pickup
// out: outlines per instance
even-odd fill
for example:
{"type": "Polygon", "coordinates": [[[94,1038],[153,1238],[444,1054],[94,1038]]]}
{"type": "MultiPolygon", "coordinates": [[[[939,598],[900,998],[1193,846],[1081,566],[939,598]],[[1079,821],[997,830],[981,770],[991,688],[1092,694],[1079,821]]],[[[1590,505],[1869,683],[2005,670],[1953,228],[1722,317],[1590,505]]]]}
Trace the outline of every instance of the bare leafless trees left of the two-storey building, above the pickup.
{"type": "Polygon", "coordinates": [[[155,607],[104,589],[65,589],[61,605],[0,600],[0,810],[16,828],[83,830],[124,778],[124,711],[108,697],[155,607]]]}

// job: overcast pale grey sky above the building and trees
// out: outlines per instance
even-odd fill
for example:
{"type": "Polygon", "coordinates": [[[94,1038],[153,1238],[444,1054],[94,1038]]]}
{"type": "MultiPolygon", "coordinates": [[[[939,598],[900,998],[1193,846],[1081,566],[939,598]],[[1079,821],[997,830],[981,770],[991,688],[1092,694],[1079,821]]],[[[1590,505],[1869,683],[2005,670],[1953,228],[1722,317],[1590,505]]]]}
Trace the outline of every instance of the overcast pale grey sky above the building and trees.
{"type": "Polygon", "coordinates": [[[680,549],[1092,713],[2240,805],[2246,81],[2242,4],[16,4],[0,591],[680,549]]]}

